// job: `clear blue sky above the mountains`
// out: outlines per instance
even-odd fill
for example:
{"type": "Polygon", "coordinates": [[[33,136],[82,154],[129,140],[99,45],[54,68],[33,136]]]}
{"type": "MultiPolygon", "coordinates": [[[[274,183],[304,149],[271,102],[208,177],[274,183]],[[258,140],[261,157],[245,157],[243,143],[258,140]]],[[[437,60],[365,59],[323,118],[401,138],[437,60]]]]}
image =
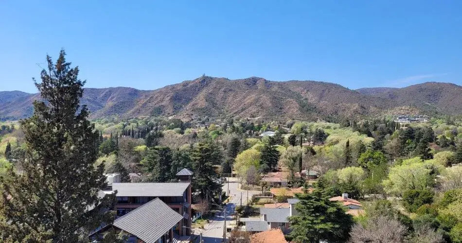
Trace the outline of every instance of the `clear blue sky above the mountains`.
{"type": "Polygon", "coordinates": [[[63,47],[86,87],[202,73],[349,88],[462,84],[461,0],[2,1],[0,90],[35,92],[63,47]]]}

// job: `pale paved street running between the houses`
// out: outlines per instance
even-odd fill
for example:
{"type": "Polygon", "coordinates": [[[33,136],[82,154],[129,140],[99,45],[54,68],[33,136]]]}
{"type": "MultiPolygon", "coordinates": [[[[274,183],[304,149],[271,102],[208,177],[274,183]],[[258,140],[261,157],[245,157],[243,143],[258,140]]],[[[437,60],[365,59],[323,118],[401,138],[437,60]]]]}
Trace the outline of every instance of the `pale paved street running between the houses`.
{"type": "MultiPolygon", "coordinates": [[[[231,214],[234,213],[236,206],[241,204],[241,192],[242,192],[242,205],[246,205],[247,203],[247,191],[241,191],[237,189],[237,178],[227,178],[227,183],[223,185],[223,191],[228,191],[231,196],[231,201],[226,204],[226,220],[227,225],[229,225],[229,221],[232,219],[231,214]],[[229,183],[228,183],[229,180],[229,183]]],[[[258,193],[258,191],[249,191],[249,198],[252,197],[253,194],[258,193]]],[[[224,220],[223,212],[217,213],[210,221],[209,224],[204,226],[204,230],[202,230],[202,237],[205,243],[219,243],[222,242],[223,239],[223,231],[224,231],[224,220]]],[[[195,230],[197,231],[197,230],[195,230]]]]}

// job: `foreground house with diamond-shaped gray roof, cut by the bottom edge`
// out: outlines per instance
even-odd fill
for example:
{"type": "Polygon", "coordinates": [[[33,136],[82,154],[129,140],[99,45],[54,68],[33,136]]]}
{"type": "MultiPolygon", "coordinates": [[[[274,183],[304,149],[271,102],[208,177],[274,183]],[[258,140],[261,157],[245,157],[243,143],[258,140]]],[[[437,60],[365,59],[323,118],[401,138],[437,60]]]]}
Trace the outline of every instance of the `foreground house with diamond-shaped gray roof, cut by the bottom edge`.
{"type": "Polygon", "coordinates": [[[100,228],[89,238],[92,242],[99,242],[105,233],[115,229],[116,233],[124,231],[128,234],[128,243],[167,243],[173,241],[175,227],[182,220],[183,216],[155,198],[117,218],[111,225],[100,228]]]}

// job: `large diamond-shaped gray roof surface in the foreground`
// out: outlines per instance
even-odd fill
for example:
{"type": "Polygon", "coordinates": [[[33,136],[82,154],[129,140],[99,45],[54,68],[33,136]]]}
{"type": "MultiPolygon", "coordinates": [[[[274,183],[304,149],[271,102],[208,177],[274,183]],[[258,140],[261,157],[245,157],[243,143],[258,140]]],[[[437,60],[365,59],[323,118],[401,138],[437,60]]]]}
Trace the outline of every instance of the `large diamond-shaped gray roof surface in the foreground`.
{"type": "Polygon", "coordinates": [[[116,219],[113,226],[138,237],[145,243],[155,243],[181,219],[183,216],[156,198],[116,219]]]}

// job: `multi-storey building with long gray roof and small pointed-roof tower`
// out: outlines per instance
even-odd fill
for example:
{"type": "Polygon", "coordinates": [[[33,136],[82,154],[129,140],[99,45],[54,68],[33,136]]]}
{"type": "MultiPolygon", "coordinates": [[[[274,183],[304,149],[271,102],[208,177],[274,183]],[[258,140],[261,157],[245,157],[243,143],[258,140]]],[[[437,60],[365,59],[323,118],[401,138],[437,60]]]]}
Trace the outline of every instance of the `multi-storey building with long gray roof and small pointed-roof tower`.
{"type": "Polygon", "coordinates": [[[179,181],[173,183],[112,183],[112,191],[117,191],[117,216],[123,216],[159,198],[183,216],[183,220],[175,227],[175,233],[180,236],[191,235],[192,175],[193,172],[183,169],[177,174],[179,181]]]}

